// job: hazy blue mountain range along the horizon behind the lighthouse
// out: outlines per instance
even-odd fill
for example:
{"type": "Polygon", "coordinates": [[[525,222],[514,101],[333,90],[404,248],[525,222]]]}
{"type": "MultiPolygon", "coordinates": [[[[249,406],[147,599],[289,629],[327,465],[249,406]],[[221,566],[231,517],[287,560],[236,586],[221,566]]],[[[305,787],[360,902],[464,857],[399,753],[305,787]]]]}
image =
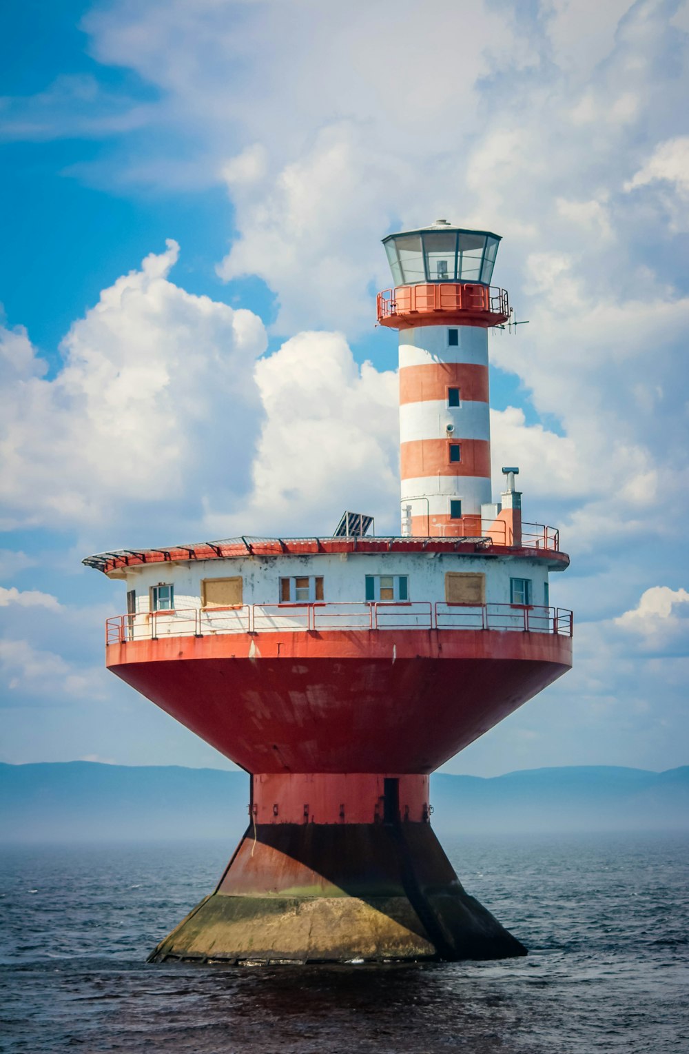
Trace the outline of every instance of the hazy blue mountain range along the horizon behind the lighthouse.
{"type": "MultiPolygon", "coordinates": [[[[247,825],[249,777],[180,766],[0,763],[0,841],[222,838],[247,825]]],[[[604,765],[431,779],[439,835],[689,829],[689,765],[604,765]]]]}

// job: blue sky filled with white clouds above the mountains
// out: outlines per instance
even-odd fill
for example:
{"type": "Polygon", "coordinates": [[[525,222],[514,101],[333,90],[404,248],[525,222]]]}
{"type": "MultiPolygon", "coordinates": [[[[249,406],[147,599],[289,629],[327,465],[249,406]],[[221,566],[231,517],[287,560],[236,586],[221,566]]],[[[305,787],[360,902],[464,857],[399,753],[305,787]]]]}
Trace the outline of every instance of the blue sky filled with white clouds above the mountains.
{"type": "Polygon", "coordinates": [[[495,496],[574,668],[446,770],[689,763],[689,3],[0,12],[0,760],[225,766],[103,667],[113,548],[398,532],[380,238],[503,235],[495,496]]]}

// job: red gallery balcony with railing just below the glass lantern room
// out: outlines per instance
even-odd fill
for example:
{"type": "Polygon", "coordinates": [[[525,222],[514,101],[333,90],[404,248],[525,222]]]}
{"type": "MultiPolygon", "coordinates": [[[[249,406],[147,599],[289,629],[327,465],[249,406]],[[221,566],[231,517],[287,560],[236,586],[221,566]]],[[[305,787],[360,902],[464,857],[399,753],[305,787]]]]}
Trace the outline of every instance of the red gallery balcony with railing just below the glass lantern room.
{"type": "Polygon", "coordinates": [[[500,326],[510,317],[507,290],[475,282],[420,282],[397,286],[377,296],[380,326],[500,326]]]}

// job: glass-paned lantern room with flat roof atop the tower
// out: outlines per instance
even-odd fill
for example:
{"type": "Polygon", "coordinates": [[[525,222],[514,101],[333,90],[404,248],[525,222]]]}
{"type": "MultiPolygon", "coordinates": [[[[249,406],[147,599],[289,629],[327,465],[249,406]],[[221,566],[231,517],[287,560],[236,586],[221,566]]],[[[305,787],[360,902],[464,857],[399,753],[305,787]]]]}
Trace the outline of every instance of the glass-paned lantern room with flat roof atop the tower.
{"type": "Polygon", "coordinates": [[[500,240],[491,231],[468,231],[436,219],[418,231],[382,239],[395,286],[460,281],[490,286],[500,240]]]}

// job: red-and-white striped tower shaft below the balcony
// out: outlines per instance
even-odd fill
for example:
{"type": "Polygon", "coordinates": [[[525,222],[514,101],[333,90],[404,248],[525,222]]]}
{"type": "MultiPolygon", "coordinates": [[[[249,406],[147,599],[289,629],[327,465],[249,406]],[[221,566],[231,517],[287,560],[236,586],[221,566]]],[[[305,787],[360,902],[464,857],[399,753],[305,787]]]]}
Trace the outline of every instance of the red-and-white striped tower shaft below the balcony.
{"type": "Polygon", "coordinates": [[[400,331],[399,426],[402,516],[411,504],[412,534],[480,533],[480,508],[491,501],[484,327],[400,331]]]}

